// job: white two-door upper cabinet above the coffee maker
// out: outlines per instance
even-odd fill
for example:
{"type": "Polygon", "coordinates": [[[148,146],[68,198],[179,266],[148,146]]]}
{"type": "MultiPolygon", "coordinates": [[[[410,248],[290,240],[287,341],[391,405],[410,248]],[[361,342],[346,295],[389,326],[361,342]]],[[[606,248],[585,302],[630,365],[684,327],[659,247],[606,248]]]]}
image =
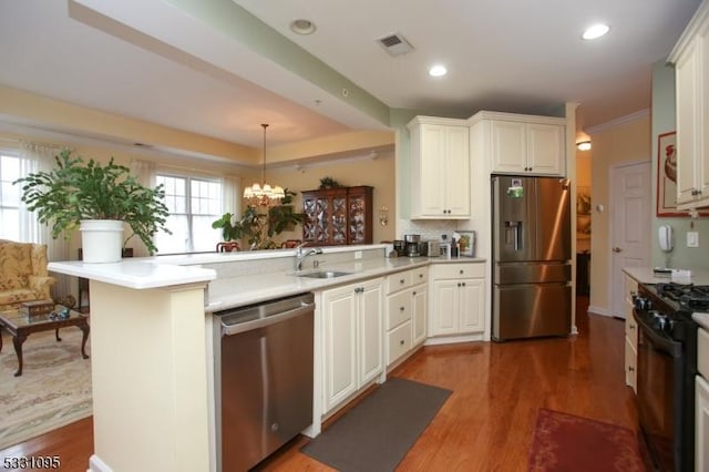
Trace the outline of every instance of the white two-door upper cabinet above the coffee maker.
{"type": "Polygon", "coordinates": [[[470,217],[470,134],[463,120],[417,116],[411,137],[411,218],[470,217]]]}

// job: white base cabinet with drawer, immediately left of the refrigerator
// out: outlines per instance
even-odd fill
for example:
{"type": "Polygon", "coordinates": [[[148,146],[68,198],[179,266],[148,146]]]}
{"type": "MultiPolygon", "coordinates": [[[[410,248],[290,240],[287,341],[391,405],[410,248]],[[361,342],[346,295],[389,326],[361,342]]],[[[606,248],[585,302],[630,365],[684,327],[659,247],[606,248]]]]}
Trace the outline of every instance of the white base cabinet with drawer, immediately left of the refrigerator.
{"type": "Polygon", "coordinates": [[[431,266],[429,335],[483,332],[485,329],[485,265],[431,266]]]}

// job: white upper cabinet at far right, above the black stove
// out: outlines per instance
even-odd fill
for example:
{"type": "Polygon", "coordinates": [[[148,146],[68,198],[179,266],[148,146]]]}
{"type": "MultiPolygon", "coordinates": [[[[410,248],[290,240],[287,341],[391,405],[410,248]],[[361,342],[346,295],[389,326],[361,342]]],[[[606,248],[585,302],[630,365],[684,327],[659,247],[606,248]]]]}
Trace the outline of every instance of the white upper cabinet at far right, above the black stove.
{"type": "Polygon", "coordinates": [[[699,7],[669,62],[676,74],[677,207],[709,206],[709,2],[699,7]]]}

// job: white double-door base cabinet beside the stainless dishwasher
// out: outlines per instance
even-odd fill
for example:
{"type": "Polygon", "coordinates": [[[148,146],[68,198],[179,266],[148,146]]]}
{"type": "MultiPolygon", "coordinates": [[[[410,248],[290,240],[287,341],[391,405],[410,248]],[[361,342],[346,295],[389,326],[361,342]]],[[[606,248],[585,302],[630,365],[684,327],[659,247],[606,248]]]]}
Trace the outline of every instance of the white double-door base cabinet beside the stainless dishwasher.
{"type": "Polygon", "coordinates": [[[330,411],[383,370],[382,279],[322,293],[325,411],[330,411]]]}

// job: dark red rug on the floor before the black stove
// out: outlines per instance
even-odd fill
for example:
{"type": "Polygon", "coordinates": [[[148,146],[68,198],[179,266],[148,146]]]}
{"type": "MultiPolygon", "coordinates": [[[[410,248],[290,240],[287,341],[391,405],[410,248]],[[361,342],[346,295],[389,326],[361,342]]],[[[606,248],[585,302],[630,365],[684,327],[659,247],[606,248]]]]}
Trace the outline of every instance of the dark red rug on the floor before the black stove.
{"type": "Polygon", "coordinates": [[[634,431],[540,409],[530,453],[534,472],[645,472],[634,431]]]}

